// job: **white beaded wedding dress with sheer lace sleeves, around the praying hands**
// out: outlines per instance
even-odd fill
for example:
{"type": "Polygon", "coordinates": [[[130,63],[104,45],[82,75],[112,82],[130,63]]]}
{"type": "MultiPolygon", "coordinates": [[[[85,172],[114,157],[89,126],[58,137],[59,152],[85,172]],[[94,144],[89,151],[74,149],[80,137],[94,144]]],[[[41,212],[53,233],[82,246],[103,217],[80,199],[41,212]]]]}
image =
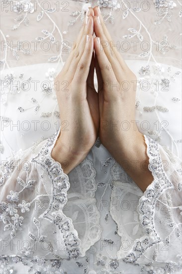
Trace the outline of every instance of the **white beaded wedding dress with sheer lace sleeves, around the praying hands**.
{"type": "Polygon", "coordinates": [[[179,0],[1,0],[0,273],[182,273],[181,9],[179,0]],[[153,175],[145,192],[99,138],[68,176],[51,157],[69,129],[54,78],[96,4],[139,81],[136,121],[153,175]]]}

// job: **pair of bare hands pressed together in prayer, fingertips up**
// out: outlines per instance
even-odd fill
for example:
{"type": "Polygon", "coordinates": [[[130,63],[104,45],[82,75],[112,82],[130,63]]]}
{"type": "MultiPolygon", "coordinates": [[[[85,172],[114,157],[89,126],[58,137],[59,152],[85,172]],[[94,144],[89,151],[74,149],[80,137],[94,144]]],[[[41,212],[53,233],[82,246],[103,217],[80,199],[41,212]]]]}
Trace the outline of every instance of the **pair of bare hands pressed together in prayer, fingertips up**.
{"type": "Polygon", "coordinates": [[[69,91],[57,90],[60,117],[69,122],[69,131],[61,132],[52,157],[60,163],[65,160],[69,163],[65,169],[63,166],[68,174],[87,156],[99,134],[101,143],[113,158],[145,191],[153,176],[148,169],[144,136],[135,123],[137,79],[120,53],[112,47],[114,42],[99,8],[90,8],[88,18],[85,18],[75,46],[55,80],[63,82],[66,79],[69,83],[69,91]],[[86,35],[90,37],[88,42],[86,35]],[[98,93],[93,85],[94,67],[98,93]]]}

